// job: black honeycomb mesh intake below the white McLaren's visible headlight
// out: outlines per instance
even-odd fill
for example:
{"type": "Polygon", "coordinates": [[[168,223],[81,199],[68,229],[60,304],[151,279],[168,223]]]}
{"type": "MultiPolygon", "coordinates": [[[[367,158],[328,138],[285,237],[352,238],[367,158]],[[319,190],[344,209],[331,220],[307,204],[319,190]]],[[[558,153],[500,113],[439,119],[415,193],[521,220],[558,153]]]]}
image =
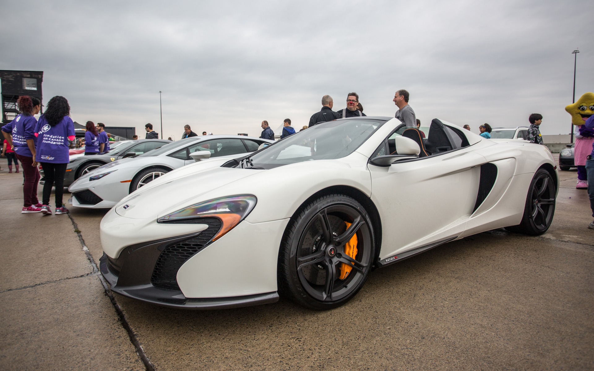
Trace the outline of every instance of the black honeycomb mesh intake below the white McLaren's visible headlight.
{"type": "MultiPolygon", "coordinates": [[[[169,222],[171,223],[171,222],[169,222]]],[[[181,266],[195,253],[199,252],[208,245],[210,240],[219,232],[221,221],[219,218],[198,218],[183,221],[176,221],[176,224],[208,224],[208,228],[203,230],[198,236],[190,239],[173,243],[163,249],[163,252],[157,259],[154,266],[151,284],[156,287],[171,288],[179,290],[176,276],[181,266]]]]}

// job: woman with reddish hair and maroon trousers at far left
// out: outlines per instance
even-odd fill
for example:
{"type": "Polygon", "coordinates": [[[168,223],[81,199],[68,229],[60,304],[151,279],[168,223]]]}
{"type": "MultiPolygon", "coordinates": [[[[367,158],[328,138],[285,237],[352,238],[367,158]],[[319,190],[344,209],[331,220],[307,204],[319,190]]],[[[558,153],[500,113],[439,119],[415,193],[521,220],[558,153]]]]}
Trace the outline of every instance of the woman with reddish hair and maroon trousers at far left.
{"type": "Polygon", "coordinates": [[[33,115],[39,113],[41,102],[34,97],[20,96],[17,100],[17,106],[21,112],[20,115],[2,126],[2,134],[4,134],[8,144],[12,145],[12,150],[14,150],[17,159],[23,164],[25,182],[23,184],[23,210],[21,210],[21,213],[39,213],[41,204],[37,199],[37,183],[40,176],[39,170],[37,170],[37,161],[35,160],[34,135],[37,120],[33,115]]]}

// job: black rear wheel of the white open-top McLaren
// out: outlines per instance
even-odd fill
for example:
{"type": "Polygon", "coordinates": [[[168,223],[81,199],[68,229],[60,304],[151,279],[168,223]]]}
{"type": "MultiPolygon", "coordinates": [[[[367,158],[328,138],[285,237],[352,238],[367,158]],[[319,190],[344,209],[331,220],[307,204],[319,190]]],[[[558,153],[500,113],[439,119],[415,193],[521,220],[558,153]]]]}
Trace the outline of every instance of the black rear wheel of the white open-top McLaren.
{"type": "Polygon", "coordinates": [[[539,236],[551,226],[555,214],[557,189],[549,172],[539,169],[528,188],[522,221],[517,226],[505,227],[510,232],[539,236]]]}

